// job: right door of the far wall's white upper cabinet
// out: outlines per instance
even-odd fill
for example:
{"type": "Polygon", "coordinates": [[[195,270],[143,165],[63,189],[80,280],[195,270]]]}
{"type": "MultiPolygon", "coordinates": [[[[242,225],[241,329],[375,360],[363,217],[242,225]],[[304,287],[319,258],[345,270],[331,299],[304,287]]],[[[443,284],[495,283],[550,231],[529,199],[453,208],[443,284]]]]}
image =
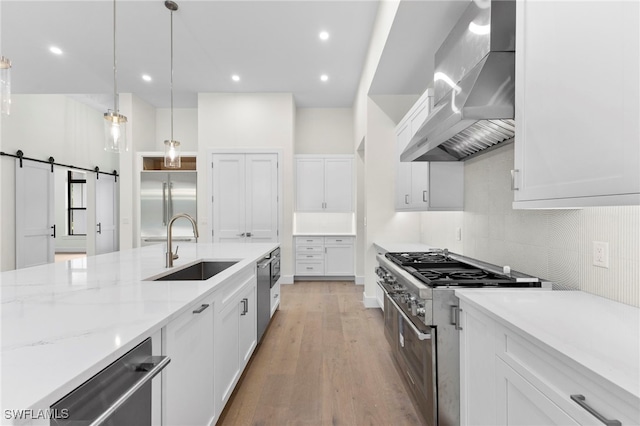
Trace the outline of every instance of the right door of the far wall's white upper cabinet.
{"type": "Polygon", "coordinates": [[[346,158],[324,160],[324,211],[353,211],[352,164],[346,158]]]}

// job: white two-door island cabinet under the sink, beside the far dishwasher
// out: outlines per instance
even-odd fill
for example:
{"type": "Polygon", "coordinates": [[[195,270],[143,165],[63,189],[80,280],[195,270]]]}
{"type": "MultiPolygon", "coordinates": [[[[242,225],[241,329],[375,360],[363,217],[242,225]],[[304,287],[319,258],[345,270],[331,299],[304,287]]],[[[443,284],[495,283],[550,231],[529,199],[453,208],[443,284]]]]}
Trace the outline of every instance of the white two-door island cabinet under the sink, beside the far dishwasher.
{"type": "Polygon", "coordinates": [[[257,344],[255,265],[239,272],[216,292],[216,417],[229,400],[257,344]]]}

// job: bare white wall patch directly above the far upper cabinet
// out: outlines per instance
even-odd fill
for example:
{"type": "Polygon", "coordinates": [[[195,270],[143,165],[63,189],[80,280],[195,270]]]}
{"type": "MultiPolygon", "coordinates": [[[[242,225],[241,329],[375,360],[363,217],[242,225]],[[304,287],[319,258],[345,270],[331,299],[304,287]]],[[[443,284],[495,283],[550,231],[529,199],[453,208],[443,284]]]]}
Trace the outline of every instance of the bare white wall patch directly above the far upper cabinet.
{"type": "Polygon", "coordinates": [[[353,154],[351,108],[298,108],[296,154],[353,154]]]}

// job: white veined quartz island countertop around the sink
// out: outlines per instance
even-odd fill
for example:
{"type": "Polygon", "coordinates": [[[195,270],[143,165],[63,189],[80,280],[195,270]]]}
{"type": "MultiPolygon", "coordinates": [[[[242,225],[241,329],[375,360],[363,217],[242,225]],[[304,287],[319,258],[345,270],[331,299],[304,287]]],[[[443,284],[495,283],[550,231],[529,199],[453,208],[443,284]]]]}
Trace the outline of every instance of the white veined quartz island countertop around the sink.
{"type": "Polygon", "coordinates": [[[277,246],[180,243],[173,270],[239,261],[207,281],[145,281],[164,244],[1,273],[0,413],[48,408],[277,246]]]}

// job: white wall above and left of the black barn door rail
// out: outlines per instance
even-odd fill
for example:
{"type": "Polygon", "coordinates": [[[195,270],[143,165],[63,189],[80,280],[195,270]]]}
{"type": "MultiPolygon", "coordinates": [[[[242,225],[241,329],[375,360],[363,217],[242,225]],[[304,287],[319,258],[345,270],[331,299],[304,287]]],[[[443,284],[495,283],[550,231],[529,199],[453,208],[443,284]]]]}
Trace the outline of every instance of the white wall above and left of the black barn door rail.
{"type": "MultiPolygon", "coordinates": [[[[63,95],[11,97],[11,115],[2,116],[0,150],[26,157],[101,170],[117,169],[118,156],[104,151],[103,113],[63,95]]],[[[2,176],[2,233],[0,270],[15,268],[15,168],[10,157],[0,158],[2,176]]]]}

